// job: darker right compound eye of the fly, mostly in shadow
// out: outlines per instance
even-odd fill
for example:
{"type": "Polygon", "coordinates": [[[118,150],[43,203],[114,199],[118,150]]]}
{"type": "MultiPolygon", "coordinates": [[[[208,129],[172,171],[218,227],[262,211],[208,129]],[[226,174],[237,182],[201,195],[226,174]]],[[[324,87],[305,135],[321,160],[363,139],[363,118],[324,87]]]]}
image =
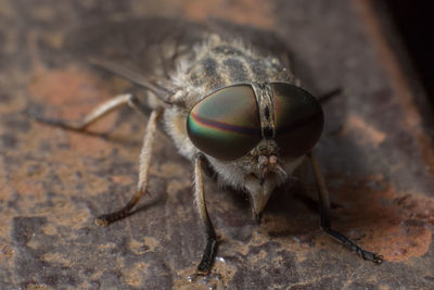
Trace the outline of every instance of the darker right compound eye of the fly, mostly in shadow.
{"type": "Polygon", "coordinates": [[[309,92],[289,84],[273,83],[276,141],[281,155],[309,152],[324,125],[322,109],[309,92]]]}

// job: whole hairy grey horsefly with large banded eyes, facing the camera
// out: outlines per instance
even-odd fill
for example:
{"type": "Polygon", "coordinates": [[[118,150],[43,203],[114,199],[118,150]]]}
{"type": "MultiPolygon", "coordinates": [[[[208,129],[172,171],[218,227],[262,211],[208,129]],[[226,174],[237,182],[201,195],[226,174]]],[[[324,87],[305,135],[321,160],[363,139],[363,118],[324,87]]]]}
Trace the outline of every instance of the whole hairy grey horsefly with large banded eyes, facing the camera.
{"type": "Polygon", "coordinates": [[[179,153],[193,163],[194,199],[206,236],[200,274],[212,269],[217,244],[203,172],[213,171],[224,185],[246,192],[253,217],[260,222],[273,190],[306,159],[318,186],[322,230],[362,259],[382,262],[331,228],[329,192],[312,154],[323,112],[318,99],[301,88],[286,47],[271,33],[217,21],[145,18],[97,25],[77,35],[79,40],[72,37],[72,42],[80,43],[93,64],[143,88],[146,99],[120,94],[81,122],[43,122],[85,130],[124,105],[152,109],[137,191],[123,209],[99,216],[98,225],[125,217],[145,194],[156,124],[163,122],[179,153]]]}

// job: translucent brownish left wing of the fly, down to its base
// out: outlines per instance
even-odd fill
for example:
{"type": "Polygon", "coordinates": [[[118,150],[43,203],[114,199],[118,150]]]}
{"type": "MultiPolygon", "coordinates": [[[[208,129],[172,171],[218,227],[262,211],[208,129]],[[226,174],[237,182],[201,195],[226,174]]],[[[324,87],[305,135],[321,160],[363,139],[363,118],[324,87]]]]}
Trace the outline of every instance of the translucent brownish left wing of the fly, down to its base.
{"type": "Polygon", "coordinates": [[[85,25],[66,38],[66,50],[123,76],[169,102],[169,79],[180,58],[204,40],[206,27],[177,18],[141,18],[85,25]]]}

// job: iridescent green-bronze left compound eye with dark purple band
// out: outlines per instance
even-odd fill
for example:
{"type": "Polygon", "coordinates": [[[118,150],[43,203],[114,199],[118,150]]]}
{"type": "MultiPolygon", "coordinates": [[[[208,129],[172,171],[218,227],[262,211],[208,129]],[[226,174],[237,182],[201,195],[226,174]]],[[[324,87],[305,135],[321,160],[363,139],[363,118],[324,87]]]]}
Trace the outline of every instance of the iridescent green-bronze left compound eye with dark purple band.
{"type": "Polygon", "coordinates": [[[218,160],[235,160],[261,139],[259,111],[251,86],[226,87],[202,99],[187,118],[195,147],[218,160]]]}

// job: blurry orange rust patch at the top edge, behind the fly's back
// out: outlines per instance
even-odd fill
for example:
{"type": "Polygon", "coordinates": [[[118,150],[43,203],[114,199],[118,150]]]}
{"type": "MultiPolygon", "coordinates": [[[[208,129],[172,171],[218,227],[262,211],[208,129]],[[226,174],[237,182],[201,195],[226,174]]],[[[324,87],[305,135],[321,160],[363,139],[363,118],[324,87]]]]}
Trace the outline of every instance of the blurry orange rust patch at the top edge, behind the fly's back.
{"type": "Polygon", "coordinates": [[[275,16],[272,4],[257,0],[189,0],[182,4],[183,14],[191,20],[205,21],[209,17],[230,20],[238,24],[248,24],[261,28],[272,28],[275,16]]]}

